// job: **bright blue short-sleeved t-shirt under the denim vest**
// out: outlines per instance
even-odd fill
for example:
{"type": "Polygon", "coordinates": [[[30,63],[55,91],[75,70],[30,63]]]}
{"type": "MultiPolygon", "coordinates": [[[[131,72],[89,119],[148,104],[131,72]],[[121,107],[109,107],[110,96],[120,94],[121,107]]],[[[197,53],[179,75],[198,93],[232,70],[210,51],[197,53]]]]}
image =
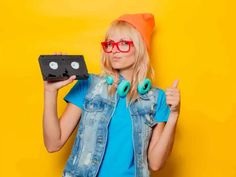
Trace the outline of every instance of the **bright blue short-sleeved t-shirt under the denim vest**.
{"type": "MultiPolygon", "coordinates": [[[[77,81],[64,97],[64,100],[83,109],[84,98],[90,81],[91,77],[88,80],[77,81]]],[[[166,104],[165,92],[160,89],[155,120],[166,122],[169,113],[170,109],[166,104]]],[[[106,152],[98,177],[134,177],[132,122],[129,110],[126,107],[126,97],[119,98],[108,131],[106,152]]]]}

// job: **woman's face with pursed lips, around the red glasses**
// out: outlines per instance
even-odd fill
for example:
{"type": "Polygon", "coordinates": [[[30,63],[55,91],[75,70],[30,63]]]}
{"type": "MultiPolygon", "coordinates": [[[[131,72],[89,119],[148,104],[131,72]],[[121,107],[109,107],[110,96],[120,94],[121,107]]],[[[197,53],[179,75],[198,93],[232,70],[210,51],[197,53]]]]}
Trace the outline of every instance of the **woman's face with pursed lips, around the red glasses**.
{"type": "MultiPolygon", "coordinates": [[[[119,42],[122,40],[132,41],[130,38],[122,35],[118,30],[111,34],[107,41],[119,42]]],[[[106,53],[109,58],[112,68],[117,70],[127,70],[132,68],[135,63],[135,47],[134,45],[130,46],[130,50],[127,53],[123,53],[117,49],[117,46],[114,46],[111,53],[106,53]]]]}

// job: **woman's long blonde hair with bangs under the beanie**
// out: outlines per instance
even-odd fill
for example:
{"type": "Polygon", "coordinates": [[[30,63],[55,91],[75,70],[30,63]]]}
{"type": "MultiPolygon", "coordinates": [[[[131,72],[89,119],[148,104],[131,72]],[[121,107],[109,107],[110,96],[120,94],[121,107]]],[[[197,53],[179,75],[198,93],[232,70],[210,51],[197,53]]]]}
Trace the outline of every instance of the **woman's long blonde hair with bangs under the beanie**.
{"type": "MultiPolygon", "coordinates": [[[[127,94],[127,103],[131,103],[138,97],[137,86],[140,81],[146,77],[153,80],[154,70],[150,65],[150,58],[145,42],[140,33],[130,24],[123,21],[114,21],[105,34],[105,40],[112,34],[114,30],[119,30],[124,35],[127,35],[134,43],[135,47],[135,63],[133,65],[133,74],[131,79],[130,91],[127,94]]],[[[101,51],[101,76],[112,75],[114,83],[109,87],[108,94],[114,95],[116,92],[117,83],[119,83],[119,71],[112,68],[110,60],[106,58],[104,51],[101,51]]]]}

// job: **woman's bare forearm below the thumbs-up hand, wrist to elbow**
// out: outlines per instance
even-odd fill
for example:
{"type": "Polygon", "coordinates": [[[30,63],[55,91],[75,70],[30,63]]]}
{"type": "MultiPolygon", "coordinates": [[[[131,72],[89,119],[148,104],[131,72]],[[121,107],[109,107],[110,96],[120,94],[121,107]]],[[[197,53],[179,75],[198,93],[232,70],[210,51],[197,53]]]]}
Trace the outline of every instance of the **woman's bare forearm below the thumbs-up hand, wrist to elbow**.
{"type": "Polygon", "coordinates": [[[169,154],[171,153],[175,129],[178,120],[178,115],[170,113],[168,122],[158,140],[158,143],[152,148],[149,154],[149,164],[152,170],[157,171],[165,164],[169,154]]]}

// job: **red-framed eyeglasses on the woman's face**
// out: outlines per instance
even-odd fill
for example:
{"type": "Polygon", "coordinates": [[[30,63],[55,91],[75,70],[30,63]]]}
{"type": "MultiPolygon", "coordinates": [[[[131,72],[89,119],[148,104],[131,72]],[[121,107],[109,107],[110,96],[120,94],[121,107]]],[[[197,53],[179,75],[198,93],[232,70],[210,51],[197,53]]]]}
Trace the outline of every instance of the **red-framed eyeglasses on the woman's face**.
{"type": "Polygon", "coordinates": [[[101,44],[104,52],[106,53],[111,53],[114,46],[116,46],[120,52],[127,53],[130,51],[130,46],[133,45],[133,41],[126,41],[126,40],[122,40],[119,42],[104,41],[101,42],[101,44]]]}

